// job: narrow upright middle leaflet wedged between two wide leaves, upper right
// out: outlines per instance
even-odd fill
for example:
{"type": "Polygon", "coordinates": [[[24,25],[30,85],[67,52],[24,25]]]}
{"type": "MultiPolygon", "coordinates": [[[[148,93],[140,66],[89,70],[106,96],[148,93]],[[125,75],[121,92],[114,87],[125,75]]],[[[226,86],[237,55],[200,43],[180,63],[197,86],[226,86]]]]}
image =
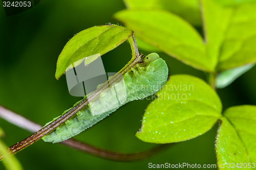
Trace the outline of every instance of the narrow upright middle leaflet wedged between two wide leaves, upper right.
{"type": "Polygon", "coordinates": [[[211,58],[216,67],[232,11],[223,9],[211,0],[201,0],[200,2],[207,56],[211,58]]]}

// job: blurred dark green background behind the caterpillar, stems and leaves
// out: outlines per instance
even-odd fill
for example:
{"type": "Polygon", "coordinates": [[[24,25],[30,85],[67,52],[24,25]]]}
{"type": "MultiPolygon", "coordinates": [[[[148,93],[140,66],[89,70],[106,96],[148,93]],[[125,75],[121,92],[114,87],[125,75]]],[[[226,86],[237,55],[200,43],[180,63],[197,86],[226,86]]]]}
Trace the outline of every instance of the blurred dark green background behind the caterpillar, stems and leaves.
{"type": "MultiPolygon", "coordinates": [[[[71,107],[80,98],[69,94],[65,76],[60,81],[54,78],[59,53],[79,31],[108,22],[117,23],[112,16],[124,8],[120,0],[41,1],[28,11],[7,17],[0,7],[0,105],[41,125],[71,107]]],[[[204,72],[159,54],[168,64],[169,76],[189,74],[205,80],[204,72]]],[[[123,43],[102,59],[107,72],[118,71],[131,59],[129,44],[123,43]]],[[[255,73],[253,67],[232,85],[218,90],[224,109],[256,104],[255,73]]],[[[128,103],[75,138],[118,152],[151,148],[154,144],[144,143],[134,136],[149,103],[146,100],[128,103]]],[[[3,119],[0,119],[0,127],[5,131],[3,140],[8,146],[31,135],[3,119]]],[[[104,160],[42,140],[16,157],[26,170],[147,169],[149,162],[214,164],[216,130],[217,125],[202,136],[177,143],[152,158],[131,163],[104,160]]],[[[0,162],[0,169],[3,168],[0,162]]]]}

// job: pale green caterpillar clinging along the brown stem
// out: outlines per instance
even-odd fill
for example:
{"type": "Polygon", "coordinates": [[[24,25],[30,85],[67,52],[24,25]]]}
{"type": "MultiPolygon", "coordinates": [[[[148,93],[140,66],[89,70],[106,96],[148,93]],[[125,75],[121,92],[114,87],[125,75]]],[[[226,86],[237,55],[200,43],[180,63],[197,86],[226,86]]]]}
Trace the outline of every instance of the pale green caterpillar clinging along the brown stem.
{"type": "MultiPolygon", "coordinates": [[[[89,105],[67,120],[65,124],[42,137],[42,140],[56,143],[79,134],[125,103],[153,95],[165,84],[167,76],[168,68],[165,61],[156,53],[147,55],[142,62],[137,63],[131,70],[125,72],[122,80],[113,83],[93,99],[89,105]]],[[[99,87],[100,85],[97,88],[99,87]]],[[[85,98],[86,96],[84,96],[85,98]]],[[[62,115],[70,109],[63,112],[62,115]]],[[[52,122],[58,117],[54,118],[52,122]]]]}

